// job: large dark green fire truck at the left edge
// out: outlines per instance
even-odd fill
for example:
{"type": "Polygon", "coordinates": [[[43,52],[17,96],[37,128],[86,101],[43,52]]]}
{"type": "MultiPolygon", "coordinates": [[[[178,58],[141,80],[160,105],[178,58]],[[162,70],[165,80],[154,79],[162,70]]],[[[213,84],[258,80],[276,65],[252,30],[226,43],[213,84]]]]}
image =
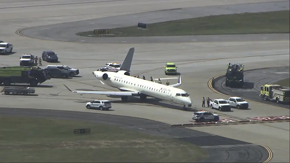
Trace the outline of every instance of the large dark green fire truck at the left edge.
{"type": "Polygon", "coordinates": [[[0,67],[0,84],[9,86],[10,84],[30,84],[35,87],[50,79],[48,73],[39,67],[0,67]]]}

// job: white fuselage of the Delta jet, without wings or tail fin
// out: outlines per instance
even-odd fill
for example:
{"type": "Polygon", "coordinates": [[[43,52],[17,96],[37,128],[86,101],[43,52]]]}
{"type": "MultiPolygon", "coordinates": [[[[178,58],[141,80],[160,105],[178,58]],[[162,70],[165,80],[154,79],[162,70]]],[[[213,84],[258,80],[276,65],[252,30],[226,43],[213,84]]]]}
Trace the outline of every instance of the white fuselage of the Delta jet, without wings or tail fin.
{"type": "Polygon", "coordinates": [[[111,87],[118,88],[121,91],[138,92],[137,95],[140,98],[145,95],[145,98],[146,96],[151,96],[181,105],[191,106],[192,104],[189,95],[182,89],[128,76],[123,71],[118,71],[117,73],[94,71],[93,74],[98,80],[111,87]],[[105,75],[107,79],[103,77],[105,73],[107,74],[105,75]]]}

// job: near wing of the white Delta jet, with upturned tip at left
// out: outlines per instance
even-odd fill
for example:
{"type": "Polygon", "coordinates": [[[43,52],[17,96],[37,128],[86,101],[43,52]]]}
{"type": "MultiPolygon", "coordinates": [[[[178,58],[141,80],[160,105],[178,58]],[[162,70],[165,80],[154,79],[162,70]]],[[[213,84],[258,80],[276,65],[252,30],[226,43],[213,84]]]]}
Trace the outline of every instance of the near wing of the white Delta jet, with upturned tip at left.
{"type": "Polygon", "coordinates": [[[72,91],[65,84],[63,84],[69,91],[74,93],[82,93],[82,94],[98,94],[98,95],[117,95],[117,96],[132,96],[138,95],[139,92],[131,92],[131,91],[72,91]]]}

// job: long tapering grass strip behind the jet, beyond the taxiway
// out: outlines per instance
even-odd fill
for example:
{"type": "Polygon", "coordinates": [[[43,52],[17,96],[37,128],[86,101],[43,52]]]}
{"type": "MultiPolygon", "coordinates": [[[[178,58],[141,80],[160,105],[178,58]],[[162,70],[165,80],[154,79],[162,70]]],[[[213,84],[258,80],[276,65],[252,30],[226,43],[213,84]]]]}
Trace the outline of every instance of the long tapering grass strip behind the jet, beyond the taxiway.
{"type": "MultiPolygon", "coordinates": [[[[289,10],[214,15],[173,20],[147,24],[147,28],[149,30],[138,29],[137,25],[124,28],[113,28],[110,29],[110,33],[114,34],[115,37],[289,33],[289,10]]],[[[94,33],[93,31],[87,31],[76,34],[80,36],[88,36],[93,35],[94,33]]],[[[103,36],[110,35],[95,37],[103,36]]]]}

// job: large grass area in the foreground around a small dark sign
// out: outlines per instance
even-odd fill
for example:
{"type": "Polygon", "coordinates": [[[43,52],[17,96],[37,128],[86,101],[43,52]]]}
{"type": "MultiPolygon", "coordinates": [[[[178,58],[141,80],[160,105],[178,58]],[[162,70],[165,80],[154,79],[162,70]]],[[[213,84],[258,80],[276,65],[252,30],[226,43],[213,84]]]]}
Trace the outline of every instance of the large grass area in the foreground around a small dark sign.
{"type": "Polygon", "coordinates": [[[0,116],[1,162],[195,162],[193,144],[104,124],[0,116]],[[90,135],[74,135],[91,128],[90,135]]]}

